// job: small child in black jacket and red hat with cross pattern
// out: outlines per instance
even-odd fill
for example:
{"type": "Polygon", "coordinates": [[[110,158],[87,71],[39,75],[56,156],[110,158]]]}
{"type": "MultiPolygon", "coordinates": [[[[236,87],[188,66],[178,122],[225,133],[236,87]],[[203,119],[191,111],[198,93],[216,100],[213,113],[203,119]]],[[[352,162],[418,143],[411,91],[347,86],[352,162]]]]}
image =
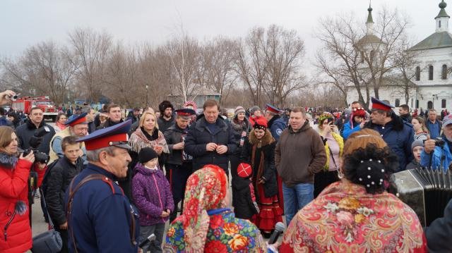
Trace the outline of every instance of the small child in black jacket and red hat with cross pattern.
{"type": "Polygon", "coordinates": [[[240,163],[237,168],[236,178],[232,179],[232,206],[234,206],[235,218],[250,220],[254,214],[259,213],[259,207],[254,194],[254,186],[251,181],[253,169],[248,163],[240,163]]]}

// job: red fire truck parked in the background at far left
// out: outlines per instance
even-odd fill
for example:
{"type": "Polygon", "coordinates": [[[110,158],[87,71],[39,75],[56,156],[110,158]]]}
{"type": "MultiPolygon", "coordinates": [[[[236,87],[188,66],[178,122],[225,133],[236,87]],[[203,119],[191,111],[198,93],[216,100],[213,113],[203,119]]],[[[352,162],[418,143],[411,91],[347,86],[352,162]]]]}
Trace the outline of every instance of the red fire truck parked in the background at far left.
{"type": "Polygon", "coordinates": [[[57,120],[58,109],[55,108],[54,102],[48,96],[44,97],[20,97],[13,101],[13,109],[23,111],[25,114],[30,114],[33,107],[40,107],[44,112],[45,118],[52,118],[52,121],[57,120]]]}

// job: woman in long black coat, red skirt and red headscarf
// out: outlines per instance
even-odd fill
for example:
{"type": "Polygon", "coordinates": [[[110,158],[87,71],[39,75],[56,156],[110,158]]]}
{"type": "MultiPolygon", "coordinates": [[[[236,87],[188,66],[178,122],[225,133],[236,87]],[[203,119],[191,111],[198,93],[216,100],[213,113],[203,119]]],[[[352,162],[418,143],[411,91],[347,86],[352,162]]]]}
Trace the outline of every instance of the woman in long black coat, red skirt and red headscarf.
{"type": "MultiPolygon", "coordinates": [[[[267,122],[264,119],[258,120],[249,133],[249,138],[245,141],[240,157],[242,162],[251,164],[253,168],[251,178],[260,212],[254,215],[251,221],[256,224],[264,236],[270,235],[278,221],[283,222],[283,210],[278,202],[275,145],[275,138],[267,130],[267,122]]],[[[240,197],[233,195],[233,204],[234,199],[240,197]]],[[[237,208],[240,209],[240,206],[234,206],[234,209],[237,208]]]]}

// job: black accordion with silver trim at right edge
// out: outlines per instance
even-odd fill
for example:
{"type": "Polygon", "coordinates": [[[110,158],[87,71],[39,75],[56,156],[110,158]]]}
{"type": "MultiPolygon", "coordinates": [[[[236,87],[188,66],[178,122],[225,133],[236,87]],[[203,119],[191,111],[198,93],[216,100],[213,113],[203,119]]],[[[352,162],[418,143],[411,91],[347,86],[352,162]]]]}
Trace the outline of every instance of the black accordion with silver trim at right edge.
{"type": "Polygon", "coordinates": [[[428,168],[393,173],[389,192],[408,204],[423,226],[429,226],[444,215],[444,208],[452,199],[452,173],[428,168]]]}

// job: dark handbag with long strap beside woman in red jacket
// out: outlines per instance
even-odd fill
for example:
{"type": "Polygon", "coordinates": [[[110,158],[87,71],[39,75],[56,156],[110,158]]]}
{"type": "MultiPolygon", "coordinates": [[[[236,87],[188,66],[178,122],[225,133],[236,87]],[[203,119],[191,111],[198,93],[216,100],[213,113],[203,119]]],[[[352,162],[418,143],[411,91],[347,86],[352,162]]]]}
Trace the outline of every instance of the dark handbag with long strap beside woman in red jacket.
{"type": "MultiPolygon", "coordinates": [[[[44,203],[44,208],[47,209],[47,204],[45,203],[44,194],[41,189],[40,194],[42,202],[44,203]]],[[[33,245],[31,248],[33,253],[57,253],[60,252],[63,247],[63,240],[61,240],[59,232],[54,229],[54,223],[49,216],[49,212],[47,212],[47,218],[49,218],[49,224],[52,228],[33,237],[33,245]]]]}

